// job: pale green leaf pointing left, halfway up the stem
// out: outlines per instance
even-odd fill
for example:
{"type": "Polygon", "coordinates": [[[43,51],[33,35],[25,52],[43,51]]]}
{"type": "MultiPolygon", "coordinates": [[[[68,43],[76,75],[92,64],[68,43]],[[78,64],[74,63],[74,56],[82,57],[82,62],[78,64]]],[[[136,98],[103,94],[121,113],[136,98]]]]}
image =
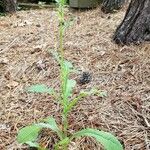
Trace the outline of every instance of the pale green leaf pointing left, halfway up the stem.
{"type": "Polygon", "coordinates": [[[49,94],[54,92],[54,90],[52,88],[48,88],[44,84],[32,85],[27,88],[27,91],[34,92],[34,93],[49,93],[49,94]]]}

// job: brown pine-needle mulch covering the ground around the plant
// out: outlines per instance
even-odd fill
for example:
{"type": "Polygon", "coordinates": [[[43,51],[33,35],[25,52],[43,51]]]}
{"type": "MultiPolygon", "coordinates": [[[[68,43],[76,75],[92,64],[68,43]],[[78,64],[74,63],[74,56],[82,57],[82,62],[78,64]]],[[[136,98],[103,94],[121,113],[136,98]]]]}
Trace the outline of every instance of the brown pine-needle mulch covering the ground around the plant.
{"type": "MultiPolygon", "coordinates": [[[[96,87],[106,97],[91,96],[80,101],[69,117],[70,132],[85,127],[116,135],[125,150],[150,149],[150,44],[117,46],[113,33],[125,14],[103,14],[96,10],[68,10],[73,25],[66,31],[65,58],[92,81],[77,85],[96,87]]],[[[20,11],[0,17],[0,149],[19,150],[18,130],[47,116],[60,123],[60,107],[49,95],[25,91],[42,83],[59,88],[59,66],[51,53],[58,47],[58,20],[54,10],[20,11]]],[[[80,75],[71,76],[78,80],[80,75]]],[[[40,143],[52,149],[57,137],[43,132],[40,143]]],[[[93,139],[70,144],[73,150],[102,149],[93,139]]]]}

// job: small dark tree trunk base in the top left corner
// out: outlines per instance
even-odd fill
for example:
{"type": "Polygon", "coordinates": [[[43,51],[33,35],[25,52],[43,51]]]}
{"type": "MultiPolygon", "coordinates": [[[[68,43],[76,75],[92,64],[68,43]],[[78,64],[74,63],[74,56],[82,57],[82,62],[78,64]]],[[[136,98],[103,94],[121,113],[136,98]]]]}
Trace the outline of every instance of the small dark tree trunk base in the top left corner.
{"type": "Polygon", "coordinates": [[[4,12],[14,13],[17,9],[17,0],[2,0],[4,12]]]}

